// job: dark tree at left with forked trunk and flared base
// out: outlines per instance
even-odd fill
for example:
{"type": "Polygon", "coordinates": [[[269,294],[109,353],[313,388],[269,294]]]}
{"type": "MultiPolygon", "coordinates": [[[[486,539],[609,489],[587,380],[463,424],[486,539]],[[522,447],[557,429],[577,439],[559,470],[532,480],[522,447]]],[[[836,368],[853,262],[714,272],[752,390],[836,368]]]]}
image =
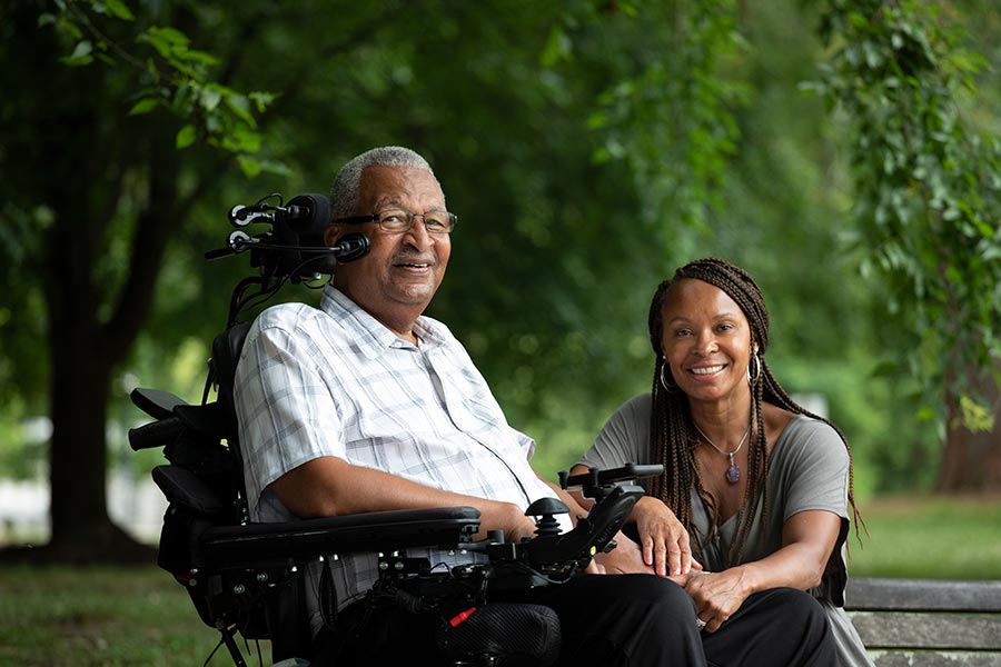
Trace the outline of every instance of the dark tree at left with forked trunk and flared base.
{"type": "MultiPolygon", "coordinates": [[[[39,275],[43,276],[50,355],[49,451],[51,541],[26,554],[32,563],[153,560],[108,515],[106,428],[110,387],[150,310],[169,235],[187,202],[177,197],[177,121],[122,118],[108,101],[121,70],[95,63],[68,68],[51,30],[29,29],[37,11],[20,16],[21,49],[36,68],[34,140],[20,147],[22,168],[44,175],[26,193],[44,206],[39,275]],[[26,36],[32,36],[28,39],[26,36]],[[107,266],[108,228],[122,198],[138,209],[127,271],[107,266]],[[125,276],[125,279],[122,279],[125,276]]],[[[200,191],[200,190],[199,190],[200,191]]],[[[120,232],[117,232],[120,233],[120,232]]]]}

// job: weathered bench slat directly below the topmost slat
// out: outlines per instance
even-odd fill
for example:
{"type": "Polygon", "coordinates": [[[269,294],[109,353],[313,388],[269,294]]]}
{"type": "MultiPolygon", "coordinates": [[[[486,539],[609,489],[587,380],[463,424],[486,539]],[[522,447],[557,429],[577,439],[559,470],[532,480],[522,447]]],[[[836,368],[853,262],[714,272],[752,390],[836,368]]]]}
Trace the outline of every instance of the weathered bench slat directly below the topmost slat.
{"type": "Polygon", "coordinates": [[[997,617],[962,614],[851,613],[852,625],[870,650],[934,648],[1001,650],[997,617]]]}

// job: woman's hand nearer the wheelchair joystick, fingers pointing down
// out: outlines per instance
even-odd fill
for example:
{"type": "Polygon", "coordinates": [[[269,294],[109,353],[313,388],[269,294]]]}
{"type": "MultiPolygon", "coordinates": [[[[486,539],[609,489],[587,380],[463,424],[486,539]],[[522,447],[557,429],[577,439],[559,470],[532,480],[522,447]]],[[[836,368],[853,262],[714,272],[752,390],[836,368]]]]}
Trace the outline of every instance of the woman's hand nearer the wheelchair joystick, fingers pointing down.
{"type": "Polygon", "coordinates": [[[702,569],[692,558],[688,531],[674,512],[657,498],[644,496],[633,508],[640,534],[643,563],[662,577],[687,575],[692,568],[702,569]]]}

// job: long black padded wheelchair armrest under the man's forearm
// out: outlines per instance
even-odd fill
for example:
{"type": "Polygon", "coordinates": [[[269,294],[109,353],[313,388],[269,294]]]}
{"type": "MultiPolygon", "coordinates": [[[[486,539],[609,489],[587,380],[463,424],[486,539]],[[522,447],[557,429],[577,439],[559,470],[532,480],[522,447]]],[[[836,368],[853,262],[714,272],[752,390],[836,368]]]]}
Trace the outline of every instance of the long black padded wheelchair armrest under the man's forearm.
{"type": "Polygon", "coordinates": [[[460,548],[479,529],[479,510],[442,507],[373,511],[275,524],[218,526],[201,535],[207,565],[265,567],[357,551],[460,548]]]}

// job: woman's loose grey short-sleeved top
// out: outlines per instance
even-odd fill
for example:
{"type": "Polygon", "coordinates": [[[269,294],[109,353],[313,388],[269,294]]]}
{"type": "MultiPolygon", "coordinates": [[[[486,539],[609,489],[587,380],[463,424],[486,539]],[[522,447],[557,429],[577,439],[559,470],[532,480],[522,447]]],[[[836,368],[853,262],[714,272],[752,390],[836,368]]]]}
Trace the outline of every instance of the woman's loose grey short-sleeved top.
{"type": "MultiPolygon", "coordinates": [[[[652,460],[650,417],[652,398],[643,394],[627,400],[605,424],[594,445],[578,461],[585,466],[614,468],[626,462],[658,464],[652,460]]],[[[648,486],[648,480],[641,480],[648,486]]],[[[760,560],[782,547],[782,526],[793,515],[825,510],[841,517],[838,542],[831,554],[820,587],[811,590],[831,619],[842,665],[872,665],[844,610],[844,540],[849,532],[849,454],[841,437],[823,421],[797,415],[780,434],[771,458],[766,487],[769,520],[762,521],[759,504],[741,563],[760,560]]],[[[712,517],[696,491],[692,491],[692,517],[702,536],[713,535],[702,545],[703,566],[726,568],[726,554],[739,528],[736,515],[711,531],[712,517]]]]}

